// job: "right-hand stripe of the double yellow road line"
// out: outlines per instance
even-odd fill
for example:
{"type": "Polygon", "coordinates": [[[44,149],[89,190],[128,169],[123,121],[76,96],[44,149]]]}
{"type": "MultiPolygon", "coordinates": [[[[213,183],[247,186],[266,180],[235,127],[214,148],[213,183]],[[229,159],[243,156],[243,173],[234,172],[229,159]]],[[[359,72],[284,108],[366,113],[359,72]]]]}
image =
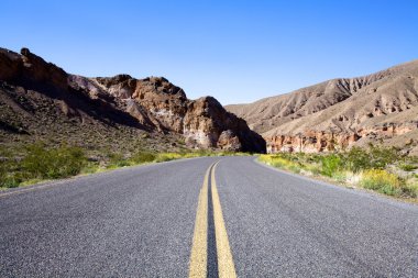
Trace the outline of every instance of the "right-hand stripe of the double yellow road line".
{"type": "MultiPolygon", "coordinates": [[[[218,162],[219,163],[219,162],[218,162]]],[[[228,241],[227,227],[223,221],[221,202],[218,194],[217,181],[215,178],[215,170],[218,163],[212,168],[212,203],[213,203],[213,221],[215,233],[217,238],[217,253],[218,253],[218,271],[220,278],[234,278],[237,277],[235,266],[233,264],[231,247],[228,241]]]]}

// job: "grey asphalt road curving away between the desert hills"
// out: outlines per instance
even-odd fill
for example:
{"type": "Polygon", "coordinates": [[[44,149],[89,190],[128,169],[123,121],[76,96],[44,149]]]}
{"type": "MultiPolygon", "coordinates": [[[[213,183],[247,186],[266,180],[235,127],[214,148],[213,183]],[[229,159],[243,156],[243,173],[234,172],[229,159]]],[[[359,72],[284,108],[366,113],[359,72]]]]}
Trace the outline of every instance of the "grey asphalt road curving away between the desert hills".
{"type": "Polygon", "coordinates": [[[418,205],[253,160],[1,192],[0,277],[418,277],[418,205]]]}

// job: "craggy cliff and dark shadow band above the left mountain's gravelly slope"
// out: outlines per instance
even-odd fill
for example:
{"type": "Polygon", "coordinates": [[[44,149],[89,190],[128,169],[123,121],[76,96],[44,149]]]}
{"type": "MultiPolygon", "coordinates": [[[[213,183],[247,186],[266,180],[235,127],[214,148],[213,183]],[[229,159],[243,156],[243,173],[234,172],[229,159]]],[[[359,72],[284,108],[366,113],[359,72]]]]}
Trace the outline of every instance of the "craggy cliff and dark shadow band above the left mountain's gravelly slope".
{"type": "MultiPolygon", "coordinates": [[[[188,100],[182,88],[162,77],[69,75],[23,48],[21,55],[0,49],[0,80],[2,102],[15,113],[30,113],[15,98],[32,98],[36,92],[52,100],[52,110],[80,125],[101,121],[110,126],[179,134],[189,147],[265,152],[265,141],[216,99],[188,100]]],[[[2,118],[0,129],[6,130],[10,124],[2,118]]]]}

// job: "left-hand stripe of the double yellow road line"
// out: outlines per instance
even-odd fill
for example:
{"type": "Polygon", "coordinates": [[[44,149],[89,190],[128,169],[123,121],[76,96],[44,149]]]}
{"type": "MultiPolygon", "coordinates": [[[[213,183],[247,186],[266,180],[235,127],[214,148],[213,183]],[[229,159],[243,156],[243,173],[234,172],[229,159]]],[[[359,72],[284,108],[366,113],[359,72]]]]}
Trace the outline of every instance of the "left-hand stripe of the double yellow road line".
{"type": "MultiPolygon", "coordinates": [[[[213,164],[212,164],[213,165],[213,164]]],[[[212,165],[205,175],[204,186],[200,189],[197,205],[195,233],[193,237],[189,262],[189,277],[205,277],[208,264],[208,184],[212,165]]]]}

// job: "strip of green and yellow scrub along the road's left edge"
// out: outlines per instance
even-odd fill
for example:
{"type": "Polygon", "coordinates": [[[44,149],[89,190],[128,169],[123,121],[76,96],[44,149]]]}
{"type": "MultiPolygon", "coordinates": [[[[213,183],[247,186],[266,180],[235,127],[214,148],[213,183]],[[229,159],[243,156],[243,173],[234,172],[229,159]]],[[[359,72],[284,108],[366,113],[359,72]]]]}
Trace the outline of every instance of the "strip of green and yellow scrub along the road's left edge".
{"type": "Polygon", "coordinates": [[[179,153],[155,153],[146,149],[134,153],[91,152],[91,149],[67,145],[51,147],[44,143],[15,148],[0,147],[0,189],[141,164],[226,155],[246,154],[190,149],[179,153]]]}

